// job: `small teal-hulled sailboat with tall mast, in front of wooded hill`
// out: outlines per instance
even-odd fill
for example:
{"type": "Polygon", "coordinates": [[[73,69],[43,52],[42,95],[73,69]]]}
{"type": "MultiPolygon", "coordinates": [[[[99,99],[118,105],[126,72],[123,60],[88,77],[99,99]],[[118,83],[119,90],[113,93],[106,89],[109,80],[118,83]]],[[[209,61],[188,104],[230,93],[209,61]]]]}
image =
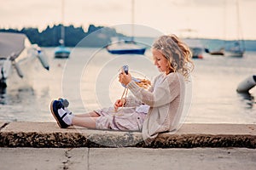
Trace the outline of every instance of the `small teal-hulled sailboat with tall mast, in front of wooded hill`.
{"type": "Polygon", "coordinates": [[[63,26],[64,22],[64,0],[62,0],[61,5],[61,39],[59,40],[60,46],[55,48],[55,58],[69,58],[70,50],[69,48],[65,47],[65,27],[63,26]]]}

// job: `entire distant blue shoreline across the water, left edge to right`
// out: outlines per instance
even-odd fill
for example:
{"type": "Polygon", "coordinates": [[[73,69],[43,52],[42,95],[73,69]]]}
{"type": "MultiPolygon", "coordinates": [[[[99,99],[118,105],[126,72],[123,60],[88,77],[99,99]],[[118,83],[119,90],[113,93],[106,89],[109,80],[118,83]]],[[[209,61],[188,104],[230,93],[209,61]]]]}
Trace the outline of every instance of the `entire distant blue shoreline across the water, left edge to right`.
{"type": "MultiPolygon", "coordinates": [[[[38,44],[40,47],[57,47],[60,45],[59,40],[61,39],[61,26],[52,26],[44,29],[44,31],[38,31],[38,28],[22,28],[18,29],[1,29],[0,32],[17,32],[24,33],[30,39],[32,43],[38,44]]],[[[64,26],[65,28],[65,46],[73,48],[79,46],[88,48],[99,48],[105,47],[111,43],[111,37],[127,37],[124,34],[117,32],[115,29],[104,26],[94,26],[90,25],[88,31],[84,31],[82,26],[64,26]],[[106,28],[101,30],[102,28],[106,28]],[[89,36],[94,33],[93,38],[89,36]],[[84,41],[86,37],[86,41],[84,41]],[[83,43],[80,44],[83,40],[83,43]]],[[[147,42],[152,44],[154,37],[135,37],[135,41],[147,42]]],[[[210,51],[215,51],[220,48],[224,48],[227,43],[234,43],[235,40],[222,40],[222,39],[212,39],[212,38],[191,38],[199,39],[201,43],[208,48],[210,51]]],[[[245,43],[246,51],[256,51],[256,40],[243,40],[245,43]]]]}

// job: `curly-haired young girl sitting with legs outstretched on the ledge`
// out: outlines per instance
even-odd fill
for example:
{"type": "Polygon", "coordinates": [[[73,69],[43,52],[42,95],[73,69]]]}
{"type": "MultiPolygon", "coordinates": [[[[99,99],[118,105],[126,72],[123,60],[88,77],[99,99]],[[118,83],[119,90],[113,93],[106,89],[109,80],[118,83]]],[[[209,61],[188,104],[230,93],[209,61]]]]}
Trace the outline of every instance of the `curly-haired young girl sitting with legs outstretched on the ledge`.
{"type": "Polygon", "coordinates": [[[119,82],[133,95],[118,99],[113,107],[82,115],[73,115],[61,100],[54,100],[50,109],[58,125],[142,131],[146,142],[151,142],[158,133],[174,130],[183,112],[184,83],[194,67],[192,54],[175,35],[159,37],[153,44],[152,54],[160,75],[148,90],[139,87],[130,73],[122,71],[119,82]]]}

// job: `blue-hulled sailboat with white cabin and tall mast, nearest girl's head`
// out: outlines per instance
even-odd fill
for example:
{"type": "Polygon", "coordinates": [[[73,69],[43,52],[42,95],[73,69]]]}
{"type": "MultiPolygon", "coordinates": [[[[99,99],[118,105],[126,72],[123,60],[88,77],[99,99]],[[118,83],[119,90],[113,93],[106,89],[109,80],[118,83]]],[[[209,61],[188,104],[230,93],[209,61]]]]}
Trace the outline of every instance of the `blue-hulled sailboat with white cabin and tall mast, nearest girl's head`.
{"type": "Polygon", "coordinates": [[[131,39],[112,38],[112,43],[106,48],[110,54],[144,54],[146,47],[134,41],[134,0],[131,0],[131,39]]]}

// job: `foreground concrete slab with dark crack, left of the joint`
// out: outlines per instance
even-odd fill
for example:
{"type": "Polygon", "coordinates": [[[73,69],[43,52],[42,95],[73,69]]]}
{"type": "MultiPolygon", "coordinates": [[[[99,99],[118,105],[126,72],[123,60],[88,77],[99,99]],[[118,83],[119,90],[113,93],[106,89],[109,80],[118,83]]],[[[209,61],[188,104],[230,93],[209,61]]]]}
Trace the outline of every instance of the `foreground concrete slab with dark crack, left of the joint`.
{"type": "Polygon", "coordinates": [[[85,169],[88,148],[0,148],[0,169],[85,169]]]}

